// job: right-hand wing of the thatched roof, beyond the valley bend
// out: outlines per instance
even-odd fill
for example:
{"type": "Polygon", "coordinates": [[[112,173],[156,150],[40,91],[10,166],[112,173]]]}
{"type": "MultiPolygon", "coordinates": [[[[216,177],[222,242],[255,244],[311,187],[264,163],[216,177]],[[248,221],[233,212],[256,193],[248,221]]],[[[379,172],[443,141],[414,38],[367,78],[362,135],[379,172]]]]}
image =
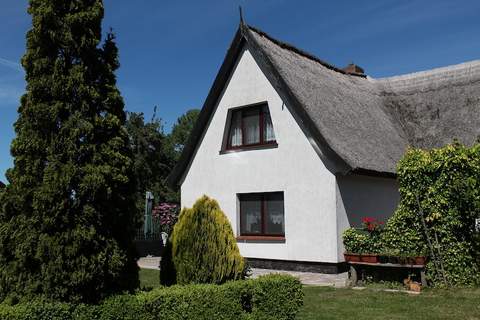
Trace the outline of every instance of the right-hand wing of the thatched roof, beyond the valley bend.
{"type": "Polygon", "coordinates": [[[470,145],[480,137],[480,60],[373,83],[410,145],[470,145]]]}

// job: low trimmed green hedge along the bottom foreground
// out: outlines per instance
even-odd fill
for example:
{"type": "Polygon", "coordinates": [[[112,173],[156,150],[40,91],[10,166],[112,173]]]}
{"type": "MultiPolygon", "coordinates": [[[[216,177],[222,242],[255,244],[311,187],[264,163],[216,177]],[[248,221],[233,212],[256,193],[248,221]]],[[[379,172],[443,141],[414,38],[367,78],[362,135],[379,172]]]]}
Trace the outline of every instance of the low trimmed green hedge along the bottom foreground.
{"type": "Polygon", "coordinates": [[[159,288],[120,295],[100,305],[29,302],[0,305],[2,320],[289,320],[303,304],[300,281],[284,275],[223,285],[159,288]]]}

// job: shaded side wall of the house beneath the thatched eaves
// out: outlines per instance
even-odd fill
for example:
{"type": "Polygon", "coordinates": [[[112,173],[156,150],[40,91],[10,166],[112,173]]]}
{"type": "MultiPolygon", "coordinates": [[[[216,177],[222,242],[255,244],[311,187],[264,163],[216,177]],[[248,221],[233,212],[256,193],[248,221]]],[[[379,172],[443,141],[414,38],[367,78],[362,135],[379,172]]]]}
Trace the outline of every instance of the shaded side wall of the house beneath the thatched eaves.
{"type": "Polygon", "coordinates": [[[395,179],[360,175],[337,177],[338,258],[343,260],[342,233],[350,226],[360,227],[363,217],[385,222],[400,201],[395,179]]]}

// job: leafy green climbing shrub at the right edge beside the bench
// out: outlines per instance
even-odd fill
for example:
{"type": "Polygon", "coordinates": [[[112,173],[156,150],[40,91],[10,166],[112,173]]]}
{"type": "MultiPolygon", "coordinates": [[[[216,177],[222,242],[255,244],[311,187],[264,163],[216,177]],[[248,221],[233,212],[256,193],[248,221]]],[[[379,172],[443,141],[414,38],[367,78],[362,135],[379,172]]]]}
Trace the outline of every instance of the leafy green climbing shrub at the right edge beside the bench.
{"type": "Polygon", "coordinates": [[[401,201],[385,226],[384,246],[400,253],[433,252],[439,259],[430,259],[427,275],[434,284],[444,282],[442,274],[448,285],[479,284],[480,144],[411,149],[398,165],[398,180],[401,201]]]}

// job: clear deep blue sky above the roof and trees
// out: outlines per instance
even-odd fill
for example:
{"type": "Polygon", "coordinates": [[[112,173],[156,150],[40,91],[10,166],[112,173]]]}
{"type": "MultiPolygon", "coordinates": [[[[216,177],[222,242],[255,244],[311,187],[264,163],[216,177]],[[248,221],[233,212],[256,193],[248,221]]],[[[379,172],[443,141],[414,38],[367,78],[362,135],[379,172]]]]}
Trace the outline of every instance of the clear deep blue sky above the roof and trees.
{"type": "MultiPolygon", "coordinates": [[[[0,180],[24,91],[19,66],[30,27],[27,0],[0,0],[0,180]]],[[[104,0],[117,34],[119,87],[129,111],[153,106],[169,130],[201,107],[238,26],[247,23],[337,66],[372,77],[480,59],[480,1],[104,0]]]]}

